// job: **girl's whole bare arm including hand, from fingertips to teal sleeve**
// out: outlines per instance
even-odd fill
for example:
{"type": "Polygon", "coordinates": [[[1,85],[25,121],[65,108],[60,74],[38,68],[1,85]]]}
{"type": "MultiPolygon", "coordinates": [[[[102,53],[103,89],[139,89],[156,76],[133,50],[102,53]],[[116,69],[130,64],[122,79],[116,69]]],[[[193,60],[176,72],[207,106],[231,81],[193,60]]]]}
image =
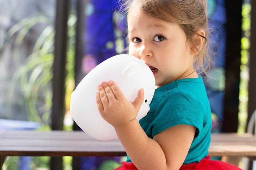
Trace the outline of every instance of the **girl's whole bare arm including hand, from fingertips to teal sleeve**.
{"type": "Polygon", "coordinates": [[[178,170],[184,162],[196,128],[176,125],[149,138],[141,128],[136,116],[144,101],[144,92],[129,102],[113,82],[102,82],[98,86],[96,102],[101,116],[116,130],[133,164],[139,170],[178,170]]]}

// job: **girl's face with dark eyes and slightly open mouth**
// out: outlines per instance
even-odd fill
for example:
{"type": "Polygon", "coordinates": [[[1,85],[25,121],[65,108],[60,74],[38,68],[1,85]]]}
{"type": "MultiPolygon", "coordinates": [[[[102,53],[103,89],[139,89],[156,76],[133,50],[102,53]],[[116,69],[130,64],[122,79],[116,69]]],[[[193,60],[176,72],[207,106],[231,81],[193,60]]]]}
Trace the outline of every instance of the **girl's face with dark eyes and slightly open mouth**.
{"type": "MultiPolygon", "coordinates": [[[[190,55],[185,33],[178,24],[153,18],[135,5],[128,13],[127,22],[129,54],[150,67],[156,85],[165,85],[194,71],[194,55],[190,55]]],[[[192,75],[197,77],[196,72],[192,75]]]]}

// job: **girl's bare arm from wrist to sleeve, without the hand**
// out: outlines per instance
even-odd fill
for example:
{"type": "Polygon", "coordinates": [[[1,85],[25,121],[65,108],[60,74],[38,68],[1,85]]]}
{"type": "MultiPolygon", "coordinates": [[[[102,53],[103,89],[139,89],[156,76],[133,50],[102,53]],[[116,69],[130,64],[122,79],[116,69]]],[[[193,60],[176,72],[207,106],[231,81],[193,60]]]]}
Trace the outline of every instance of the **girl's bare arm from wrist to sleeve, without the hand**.
{"type": "Polygon", "coordinates": [[[137,120],[115,128],[133,164],[139,170],[178,170],[184,162],[196,128],[176,125],[149,138],[137,120]]]}

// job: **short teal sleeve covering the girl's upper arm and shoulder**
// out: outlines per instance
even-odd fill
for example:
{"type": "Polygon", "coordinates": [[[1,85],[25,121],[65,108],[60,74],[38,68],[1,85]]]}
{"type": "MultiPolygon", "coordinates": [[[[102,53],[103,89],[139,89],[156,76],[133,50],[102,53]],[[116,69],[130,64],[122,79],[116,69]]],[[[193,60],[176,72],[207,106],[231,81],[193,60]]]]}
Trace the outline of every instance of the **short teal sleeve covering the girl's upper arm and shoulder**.
{"type": "Polygon", "coordinates": [[[169,127],[188,124],[196,127],[195,139],[206,122],[206,111],[200,101],[189,92],[180,90],[174,90],[159,102],[156,111],[158,115],[152,122],[153,136],[169,127]]]}

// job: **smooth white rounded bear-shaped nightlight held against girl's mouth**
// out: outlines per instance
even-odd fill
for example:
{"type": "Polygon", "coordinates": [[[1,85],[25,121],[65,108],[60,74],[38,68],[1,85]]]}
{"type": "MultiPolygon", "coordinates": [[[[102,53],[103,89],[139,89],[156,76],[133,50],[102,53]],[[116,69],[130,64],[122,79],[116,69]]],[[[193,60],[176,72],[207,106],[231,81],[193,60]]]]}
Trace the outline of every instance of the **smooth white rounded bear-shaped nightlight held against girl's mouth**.
{"type": "Polygon", "coordinates": [[[144,88],[145,98],[137,115],[138,120],[147,115],[155,92],[156,82],[152,71],[135,56],[115,55],[91,70],[72,93],[70,112],[77,125],[98,140],[117,137],[114,127],[100,116],[95,98],[97,86],[108,80],[118,85],[128,101],[133,101],[138,91],[144,88]]]}

